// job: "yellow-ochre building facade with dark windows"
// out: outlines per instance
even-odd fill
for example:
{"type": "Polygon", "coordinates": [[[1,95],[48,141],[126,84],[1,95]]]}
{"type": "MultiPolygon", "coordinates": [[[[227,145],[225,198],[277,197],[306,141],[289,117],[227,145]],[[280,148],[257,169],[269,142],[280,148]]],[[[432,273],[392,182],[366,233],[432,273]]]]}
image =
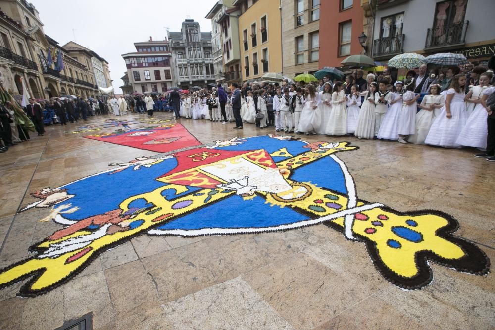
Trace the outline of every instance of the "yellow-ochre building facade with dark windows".
{"type": "Polygon", "coordinates": [[[280,1],[237,0],[242,80],[282,72],[280,1]]]}

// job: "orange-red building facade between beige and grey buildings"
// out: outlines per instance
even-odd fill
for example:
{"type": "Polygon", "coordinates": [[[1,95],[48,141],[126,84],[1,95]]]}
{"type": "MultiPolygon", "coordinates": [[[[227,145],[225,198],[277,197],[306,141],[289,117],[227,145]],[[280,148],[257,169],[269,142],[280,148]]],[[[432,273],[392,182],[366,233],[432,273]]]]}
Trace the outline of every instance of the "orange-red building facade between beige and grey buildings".
{"type": "Polygon", "coordinates": [[[357,38],[362,32],[361,0],[321,1],[319,67],[339,67],[347,56],[364,54],[357,38]]]}

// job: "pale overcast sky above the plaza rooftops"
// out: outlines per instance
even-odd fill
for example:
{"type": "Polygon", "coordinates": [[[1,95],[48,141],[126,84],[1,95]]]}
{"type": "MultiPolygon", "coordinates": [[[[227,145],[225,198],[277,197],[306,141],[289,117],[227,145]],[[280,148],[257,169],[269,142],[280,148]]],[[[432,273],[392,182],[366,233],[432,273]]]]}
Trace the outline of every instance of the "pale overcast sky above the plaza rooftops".
{"type": "Polygon", "coordinates": [[[40,12],[43,30],[60,46],[69,41],[87,47],[110,66],[115,94],[127,71],[122,54],[136,51],[133,43],[164,40],[166,28],[180,31],[192,18],[201,32],[211,31],[204,18],[217,0],[29,0],[40,12]],[[74,31],[72,31],[74,29],[74,31]],[[74,37],[75,36],[75,37],[74,37]]]}

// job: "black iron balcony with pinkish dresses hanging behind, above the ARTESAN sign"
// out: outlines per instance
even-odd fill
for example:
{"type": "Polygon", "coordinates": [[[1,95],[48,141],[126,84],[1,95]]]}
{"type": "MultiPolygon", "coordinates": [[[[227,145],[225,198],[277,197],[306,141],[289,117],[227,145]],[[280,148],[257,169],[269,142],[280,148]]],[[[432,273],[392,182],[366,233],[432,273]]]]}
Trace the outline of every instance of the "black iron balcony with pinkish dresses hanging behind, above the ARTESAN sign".
{"type": "Polygon", "coordinates": [[[428,29],[425,49],[442,49],[464,45],[469,21],[428,29]]]}

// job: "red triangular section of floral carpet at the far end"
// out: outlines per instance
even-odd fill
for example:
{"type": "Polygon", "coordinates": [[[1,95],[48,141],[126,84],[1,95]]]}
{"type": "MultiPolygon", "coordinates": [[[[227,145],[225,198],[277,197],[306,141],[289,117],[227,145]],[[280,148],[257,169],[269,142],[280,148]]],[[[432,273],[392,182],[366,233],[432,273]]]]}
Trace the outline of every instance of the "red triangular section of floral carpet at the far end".
{"type": "Polygon", "coordinates": [[[156,127],[122,128],[112,133],[88,135],[85,138],[156,152],[170,152],[201,144],[184,126],[175,123],[156,127]]]}

